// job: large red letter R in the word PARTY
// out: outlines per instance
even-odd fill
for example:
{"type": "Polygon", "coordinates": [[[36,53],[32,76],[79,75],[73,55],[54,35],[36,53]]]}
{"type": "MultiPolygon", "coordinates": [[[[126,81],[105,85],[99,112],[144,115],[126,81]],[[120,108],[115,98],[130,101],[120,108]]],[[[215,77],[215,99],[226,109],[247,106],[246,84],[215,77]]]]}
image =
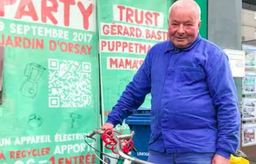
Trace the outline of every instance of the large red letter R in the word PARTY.
{"type": "Polygon", "coordinates": [[[41,5],[42,22],[46,23],[46,20],[48,17],[53,24],[57,24],[58,21],[52,15],[52,12],[57,12],[57,10],[58,10],[58,3],[56,0],[42,0],[42,5],[41,5]],[[47,1],[50,1],[52,3],[51,7],[46,6],[47,1]]]}

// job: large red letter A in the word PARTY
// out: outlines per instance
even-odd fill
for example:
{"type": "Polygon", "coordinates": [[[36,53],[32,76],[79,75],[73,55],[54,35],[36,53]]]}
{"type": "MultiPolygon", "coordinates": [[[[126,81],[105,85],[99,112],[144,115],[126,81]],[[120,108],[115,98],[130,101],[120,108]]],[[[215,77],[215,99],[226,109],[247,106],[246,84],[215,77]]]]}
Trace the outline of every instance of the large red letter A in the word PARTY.
{"type": "Polygon", "coordinates": [[[32,3],[32,0],[21,0],[19,3],[19,7],[16,11],[15,18],[21,19],[22,16],[30,16],[34,21],[38,20],[37,13],[35,12],[35,7],[32,3]],[[25,11],[26,6],[29,11],[25,11]]]}

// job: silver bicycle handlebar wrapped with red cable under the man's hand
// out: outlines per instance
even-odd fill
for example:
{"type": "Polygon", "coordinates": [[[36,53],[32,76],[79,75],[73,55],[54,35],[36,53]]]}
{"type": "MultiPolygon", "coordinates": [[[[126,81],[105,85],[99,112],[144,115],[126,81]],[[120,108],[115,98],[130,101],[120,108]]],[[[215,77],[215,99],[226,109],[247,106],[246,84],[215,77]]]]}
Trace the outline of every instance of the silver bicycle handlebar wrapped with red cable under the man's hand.
{"type": "MultiPolygon", "coordinates": [[[[102,135],[103,133],[104,133],[104,130],[94,129],[92,133],[87,135],[87,137],[92,138],[95,134],[102,135]]],[[[123,159],[127,159],[127,160],[132,161],[133,163],[136,163],[136,164],[153,164],[153,163],[150,163],[150,162],[147,162],[147,161],[143,161],[143,160],[136,159],[134,157],[128,156],[122,151],[122,149],[121,149],[122,145],[121,145],[120,140],[129,140],[133,137],[134,134],[135,134],[134,131],[132,131],[131,134],[121,134],[121,135],[114,135],[113,136],[114,141],[117,142],[117,147],[116,148],[117,148],[118,155],[120,155],[120,157],[122,157],[123,159]]]]}

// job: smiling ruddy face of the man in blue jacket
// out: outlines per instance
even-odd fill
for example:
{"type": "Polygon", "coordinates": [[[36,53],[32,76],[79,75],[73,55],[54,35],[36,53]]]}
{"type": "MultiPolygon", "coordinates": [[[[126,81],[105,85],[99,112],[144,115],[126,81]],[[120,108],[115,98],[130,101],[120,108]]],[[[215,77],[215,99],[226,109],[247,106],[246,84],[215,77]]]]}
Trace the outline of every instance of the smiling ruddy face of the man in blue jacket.
{"type": "Polygon", "coordinates": [[[169,15],[168,33],[177,48],[187,48],[196,39],[201,20],[195,9],[174,7],[169,15]]]}

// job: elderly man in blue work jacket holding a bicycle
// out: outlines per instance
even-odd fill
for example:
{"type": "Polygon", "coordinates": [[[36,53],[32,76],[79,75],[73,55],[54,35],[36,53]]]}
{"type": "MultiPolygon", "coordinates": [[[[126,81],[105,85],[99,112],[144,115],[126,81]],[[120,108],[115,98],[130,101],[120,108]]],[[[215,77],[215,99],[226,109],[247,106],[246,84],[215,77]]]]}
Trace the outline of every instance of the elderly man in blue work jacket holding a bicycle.
{"type": "Polygon", "coordinates": [[[200,7],[178,0],[169,39],[152,47],[102,128],[113,128],[151,92],[148,161],[228,164],[239,143],[236,87],[225,53],[199,35],[200,7]]]}

